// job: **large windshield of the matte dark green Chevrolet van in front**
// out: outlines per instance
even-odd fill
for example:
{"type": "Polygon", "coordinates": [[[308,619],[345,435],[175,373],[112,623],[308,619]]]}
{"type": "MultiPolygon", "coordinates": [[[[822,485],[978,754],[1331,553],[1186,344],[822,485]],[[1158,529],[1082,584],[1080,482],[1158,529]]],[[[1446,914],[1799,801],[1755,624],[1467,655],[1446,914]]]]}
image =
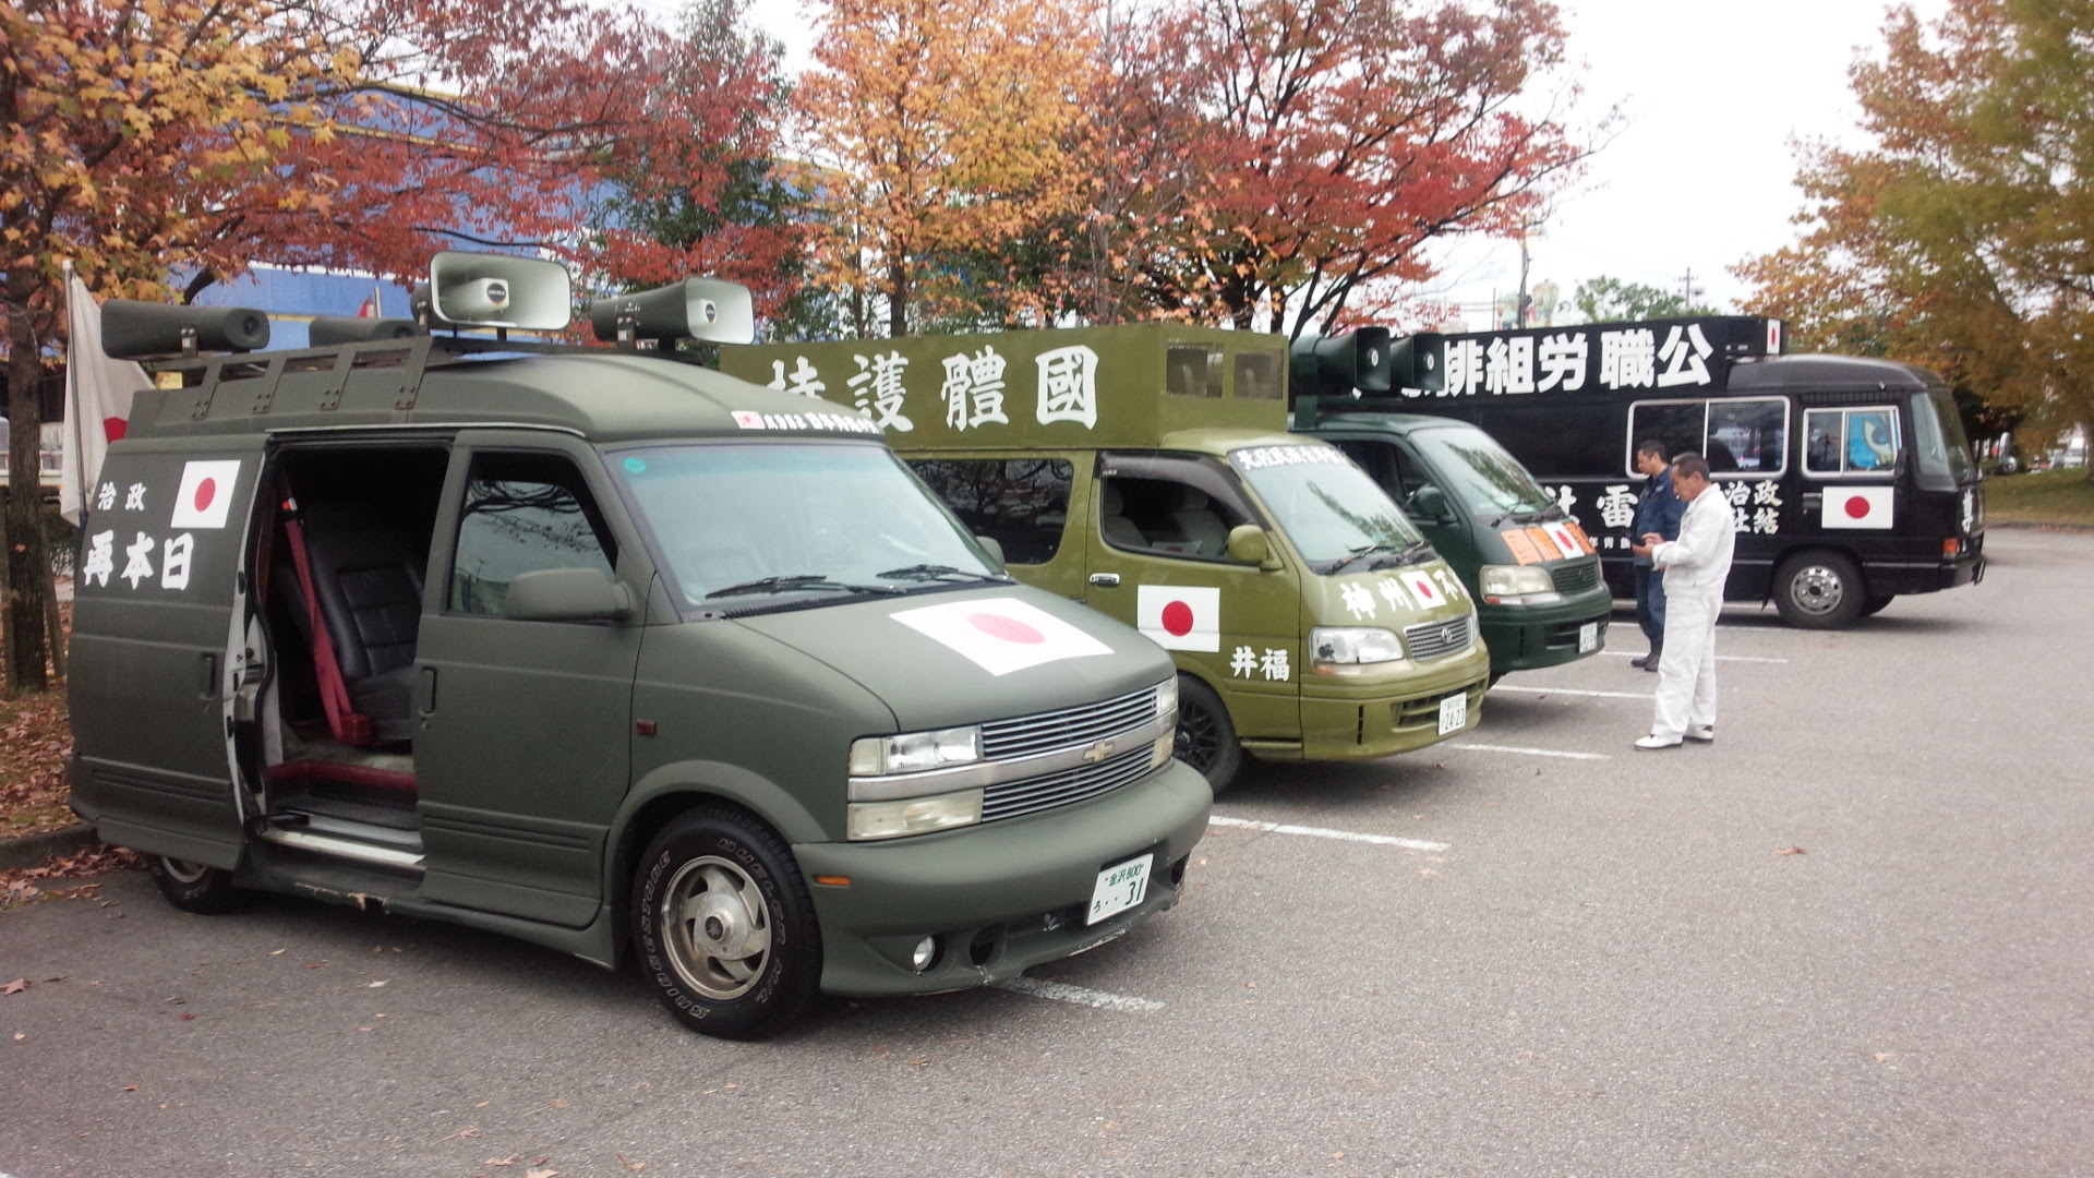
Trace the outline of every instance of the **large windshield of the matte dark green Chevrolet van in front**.
{"type": "Polygon", "coordinates": [[[886,446],[718,444],[611,455],[685,602],[727,612],[1003,583],[886,446]]]}

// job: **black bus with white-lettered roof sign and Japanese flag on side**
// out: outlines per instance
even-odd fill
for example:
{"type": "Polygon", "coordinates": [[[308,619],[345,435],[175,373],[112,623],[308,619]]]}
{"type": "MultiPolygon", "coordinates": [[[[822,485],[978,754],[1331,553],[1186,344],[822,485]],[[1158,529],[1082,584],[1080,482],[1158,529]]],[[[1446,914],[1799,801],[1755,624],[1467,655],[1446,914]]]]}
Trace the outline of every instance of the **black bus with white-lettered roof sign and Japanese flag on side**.
{"type": "Polygon", "coordinates": [[[1644,440],[1709,457],[1738,528],[1725,599],[1843,627],[1977,583],[1985,493],[1947,384],[1784,344],[1761,317],[1420,333],[1397,342],[1393,392],[1298,405],[1296,428],[1328,436],[1376,413],[1480,428],[1591,537],[1617,595],[1644,440]]]}

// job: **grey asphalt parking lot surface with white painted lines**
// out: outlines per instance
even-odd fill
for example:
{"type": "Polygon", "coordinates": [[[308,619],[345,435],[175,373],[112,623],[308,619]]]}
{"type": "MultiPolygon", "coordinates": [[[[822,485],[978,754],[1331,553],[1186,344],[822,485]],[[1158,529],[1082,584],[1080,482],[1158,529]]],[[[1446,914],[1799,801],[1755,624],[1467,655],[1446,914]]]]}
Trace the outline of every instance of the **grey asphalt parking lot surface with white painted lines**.
{"type": "Polygon", "coordinates": [[[691,1035],[630,975],[144,874],[0,912],[0,1174],[2081,1176],[2094,537],[1839,633],[1732,608],[1369,765],[1254,765],[1175,912],[1024,987],[691,1035]]]}

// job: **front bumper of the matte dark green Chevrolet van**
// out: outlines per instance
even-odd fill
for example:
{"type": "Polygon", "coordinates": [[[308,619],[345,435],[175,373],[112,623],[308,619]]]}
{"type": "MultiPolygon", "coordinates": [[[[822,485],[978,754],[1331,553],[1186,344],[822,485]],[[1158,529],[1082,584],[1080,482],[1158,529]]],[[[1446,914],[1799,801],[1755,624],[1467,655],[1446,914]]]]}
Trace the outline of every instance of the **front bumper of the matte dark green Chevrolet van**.
{"type": "Polygon", "coordinates": [[[1168,761],[1122,790],[1022,820],[892,843],[794,845],[821,918],[821,989],[967,989],[1110,941],[1177,903],[1212,801],[1206,778],[1168,761]],[[1097,872],[1143,853],[1156,855],[1148,897],[1085,924],[1097,872]],[[917,973],[907,960],[923,937],[938,937],[940,952],[917,973]]]}

